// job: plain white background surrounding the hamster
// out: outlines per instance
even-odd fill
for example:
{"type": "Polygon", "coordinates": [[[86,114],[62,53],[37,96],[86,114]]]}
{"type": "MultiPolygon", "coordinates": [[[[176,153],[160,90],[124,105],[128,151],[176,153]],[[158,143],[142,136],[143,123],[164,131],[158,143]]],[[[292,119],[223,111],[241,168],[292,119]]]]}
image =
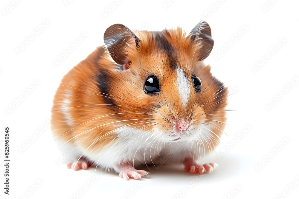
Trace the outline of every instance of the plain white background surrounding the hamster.
{"type": "Polygon", "coordinates": [[[268,1],[1,1],[0,159],[4,127],[9,127],[11,160],[10,195],[3,193],[0,164],[1,198],[298,198],[299,3],[268,1]],[[205,62],[234,93],[227,136],[202,160],[219,167],[201,177],[184,173],[183,165],[151,168],[148,178],[125,181],[116,174],[59,166],[61,156],[47,123],[54,93],[68,70],[103,45],[106,28],[115,23],[131,30],[179,25],[190,32],[202,19],[215,41],[205,62]],[[74,48],[82,33],[88,36],[74,48]],[[18,52],[22,44],[26,47],[18,52]],[[68,48],[72,52],[55,66],[68,48]]]}

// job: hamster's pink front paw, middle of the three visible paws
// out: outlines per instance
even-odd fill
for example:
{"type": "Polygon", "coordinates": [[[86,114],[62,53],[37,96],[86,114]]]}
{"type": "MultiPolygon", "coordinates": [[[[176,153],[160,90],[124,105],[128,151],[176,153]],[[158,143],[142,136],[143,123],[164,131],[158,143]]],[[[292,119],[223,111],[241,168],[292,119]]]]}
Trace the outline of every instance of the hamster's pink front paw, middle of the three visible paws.
{"type": "Polygon", "coordinates": [[[119,176],[120,178],[124,178],[129,180],[130,178],[134,178],[135,180],[140,179],[144,175],[148,175],[149,172],[144,170],[137,170],[129,163],[123,163],[118,166],[120,169],[119,176]]]}

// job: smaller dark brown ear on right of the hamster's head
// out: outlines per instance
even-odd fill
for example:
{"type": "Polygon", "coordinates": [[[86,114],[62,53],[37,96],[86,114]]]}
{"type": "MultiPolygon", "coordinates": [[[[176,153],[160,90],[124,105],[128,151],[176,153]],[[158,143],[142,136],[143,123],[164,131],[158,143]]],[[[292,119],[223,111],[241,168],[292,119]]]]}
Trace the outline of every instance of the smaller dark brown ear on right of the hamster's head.
{"type": "Polygon", "coordinates": [[[200,21],[189,33],[187,38],[193,45],[196,45],[196,54],[198,61],[207,58],[214,46],[214,40],[211,37],[211,28],[205,21],[200,21]]]}

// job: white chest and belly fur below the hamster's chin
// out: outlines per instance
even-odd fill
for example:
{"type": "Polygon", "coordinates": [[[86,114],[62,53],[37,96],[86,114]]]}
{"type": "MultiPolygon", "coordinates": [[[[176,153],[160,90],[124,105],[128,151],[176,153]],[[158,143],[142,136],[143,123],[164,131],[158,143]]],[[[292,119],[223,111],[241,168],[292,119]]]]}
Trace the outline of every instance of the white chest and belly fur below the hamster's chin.
{"type": "Polygon", "coordinates": [[[136,131],[122,128],[118,137],[97,152],[81,149],[83,155],[93,160],[103,169],[114,169],[115,165],[127,161],[132,166],[161,163],[181,163],[186,156],[198,159],[200,146],[192,140],[162,141],[161,132],[136,131]]]}

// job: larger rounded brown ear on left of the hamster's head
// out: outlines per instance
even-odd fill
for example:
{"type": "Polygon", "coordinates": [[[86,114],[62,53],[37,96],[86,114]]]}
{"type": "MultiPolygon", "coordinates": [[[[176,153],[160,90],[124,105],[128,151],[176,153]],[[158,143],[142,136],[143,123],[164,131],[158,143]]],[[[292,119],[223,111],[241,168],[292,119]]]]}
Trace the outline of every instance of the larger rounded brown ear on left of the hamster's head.
{"type": "Polygon", "coordinates": [[[123,24],[114,24],[107,28],[104,33],[104,42],[112,57],[117,64],[126,64],[128,61],[126,47],[131,45],[138,46],[138,37],[123,24]]]}

